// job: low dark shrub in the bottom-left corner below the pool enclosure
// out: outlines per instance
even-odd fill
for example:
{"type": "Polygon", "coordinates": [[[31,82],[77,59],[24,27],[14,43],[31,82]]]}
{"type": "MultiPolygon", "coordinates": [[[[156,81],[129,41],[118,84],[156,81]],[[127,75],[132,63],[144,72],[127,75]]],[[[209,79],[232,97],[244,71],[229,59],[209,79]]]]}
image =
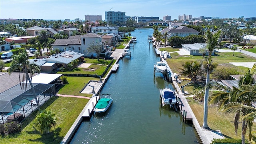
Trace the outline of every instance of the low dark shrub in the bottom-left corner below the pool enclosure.
{"type": "Polygon", "coordinates": [[[1,134],[13,134],[21,130],[21,124],[16,121],[7,121],[4,124],[0,124],[1,134]]]}

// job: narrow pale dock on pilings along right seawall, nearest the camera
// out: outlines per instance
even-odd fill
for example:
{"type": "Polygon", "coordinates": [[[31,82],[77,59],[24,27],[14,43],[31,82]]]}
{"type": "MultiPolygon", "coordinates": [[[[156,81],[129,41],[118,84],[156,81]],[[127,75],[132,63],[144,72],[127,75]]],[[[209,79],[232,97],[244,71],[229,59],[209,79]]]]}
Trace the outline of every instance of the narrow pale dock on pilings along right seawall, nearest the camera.
{"type": "Polygon", "coordinates": [[[185,98],[183,97],[183,94],[177,94],[179,100],[178,100],[178,108],[180,109],[180,115],[182,116],[183,122],[186,122],[187,120],[192,121],[192,115],[189,111],[189,104],[185,98]]]}

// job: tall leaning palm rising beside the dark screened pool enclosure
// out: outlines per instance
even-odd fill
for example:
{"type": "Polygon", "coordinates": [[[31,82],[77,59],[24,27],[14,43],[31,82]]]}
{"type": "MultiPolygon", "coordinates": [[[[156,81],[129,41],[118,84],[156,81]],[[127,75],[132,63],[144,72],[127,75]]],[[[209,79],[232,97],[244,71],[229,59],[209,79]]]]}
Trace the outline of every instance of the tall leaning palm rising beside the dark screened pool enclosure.
{"type": "MultiPolygon", "coordinates": [[[[34,74],[34,70],[38,73],[40,73],[40,66],[34,64],[34,63],[30,63],[28,61],[28,54],[27,52],[24,50],[23,52],[20,52],[18,55],[14,54],[12,56],[13,60],[10,64],[10,68],[9,70],[9,74],[11,74],[12,72],[19,70],[23,72],[23,76],[22,76],[22,81],[26,80],[26,85],[25,85],[25,90],[27,88],[27,82],[29,82],[32,92],[34,94],[34,97],[36,99],[36,104],[38,107],[38,110],[40,111],[40,106],[38,103],[38,99],[36,98],[36,91],[34,89],[34,86],[30,80],[30,77],[32,76],[32,74],[34,74]],[[30,71],[30,77],[28,75],[28,70],[30,71]]],[[[20,88],[24,88],[24,83],[21,84],[21,80],[20,80],[20,88]]]]}

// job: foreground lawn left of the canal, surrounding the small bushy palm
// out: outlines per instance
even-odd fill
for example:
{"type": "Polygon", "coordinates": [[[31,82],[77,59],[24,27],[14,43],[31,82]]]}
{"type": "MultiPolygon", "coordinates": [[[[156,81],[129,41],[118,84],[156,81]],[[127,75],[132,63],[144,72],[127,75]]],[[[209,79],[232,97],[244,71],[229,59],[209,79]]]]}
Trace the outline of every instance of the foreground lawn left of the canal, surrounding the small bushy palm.
{"type": "Polygon", "coordinates": [[[28,118],[22,123],[22,131],[18,134],[0,136],[1,144],[60,144],[84,106],[89,100],[85,98],[58,97],[41,109],[51,110],[58,118],[57,124],[49,134],[40,134],[35,127],[34,118],[28,118]],[[27,123],[28,122],[28,123],[27,123]]]}

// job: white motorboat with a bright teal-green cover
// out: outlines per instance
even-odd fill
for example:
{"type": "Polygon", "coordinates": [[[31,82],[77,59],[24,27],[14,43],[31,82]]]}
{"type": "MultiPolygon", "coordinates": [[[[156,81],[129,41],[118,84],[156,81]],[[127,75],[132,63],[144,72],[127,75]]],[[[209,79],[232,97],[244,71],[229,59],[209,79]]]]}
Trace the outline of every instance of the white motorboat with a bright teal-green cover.
{"type": "Polygon", "coordinates": [[[100,98],[100,100],[98,100],[98,103],[93,109],[94,112],[97,112],[97,113],[106,112],[106,110],[108,110],[108,108],[112,104],[113,99],[110,98],[110,94],[101,94],[101,97],[104,95],[105,95],[105,98],[100,98]]]}

